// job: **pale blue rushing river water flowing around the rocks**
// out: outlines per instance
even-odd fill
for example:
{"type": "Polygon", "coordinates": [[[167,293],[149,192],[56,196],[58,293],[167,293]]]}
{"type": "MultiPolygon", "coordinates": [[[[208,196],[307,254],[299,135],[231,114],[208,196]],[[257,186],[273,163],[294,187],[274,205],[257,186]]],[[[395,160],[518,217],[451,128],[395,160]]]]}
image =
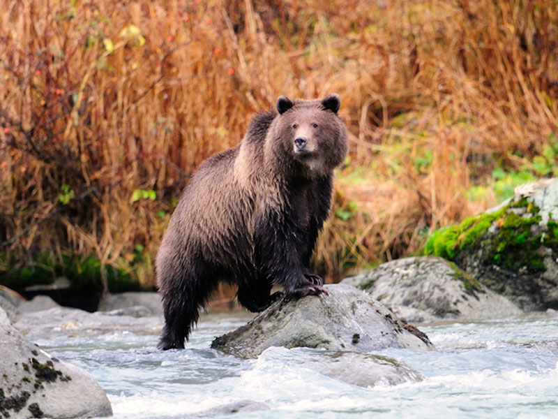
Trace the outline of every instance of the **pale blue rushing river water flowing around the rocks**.
{"type": "MultiPolygon", "coordinates": [[[[114,418],[189,418],[241,401],[269,410],[230,418],[558,418],[558,314],[421,325],[437,351],[379,352],[421,381],[361,388],[304,367],[307,348],[269,348],[241,360],[210,347],[246,323],[243,314],[202,317],[183,351],[156,351],[157,337],[130,332],[53,337],[37,343],[90,372],[114,418]]],[[[206,416],[216,417],[212,413],[206,416]]]]}

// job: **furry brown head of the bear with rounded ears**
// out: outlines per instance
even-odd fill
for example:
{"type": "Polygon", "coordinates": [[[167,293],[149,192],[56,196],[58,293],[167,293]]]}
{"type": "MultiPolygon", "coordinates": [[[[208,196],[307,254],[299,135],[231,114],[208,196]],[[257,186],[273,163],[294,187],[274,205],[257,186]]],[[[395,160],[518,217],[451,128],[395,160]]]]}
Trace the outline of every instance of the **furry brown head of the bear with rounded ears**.
{"type": "Polygon", "coordinates": [[[285,175],[329,175],[347,156],[347,128],[337,115],[338,94],[323,99],[277,99],[278,115],[266,138],[266,159],[275,160],[285,175]]]}

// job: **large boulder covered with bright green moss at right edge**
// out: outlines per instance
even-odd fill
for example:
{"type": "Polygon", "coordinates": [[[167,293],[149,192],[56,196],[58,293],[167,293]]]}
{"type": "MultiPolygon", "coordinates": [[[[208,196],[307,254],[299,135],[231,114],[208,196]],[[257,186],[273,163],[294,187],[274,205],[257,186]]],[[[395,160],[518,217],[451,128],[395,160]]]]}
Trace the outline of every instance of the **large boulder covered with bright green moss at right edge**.
{"type": "Polygon", "coordinates": [[[435,231],[425,253],[525,311],[558,308],[558,178],[518,186],[502,205],[435,231]]]}

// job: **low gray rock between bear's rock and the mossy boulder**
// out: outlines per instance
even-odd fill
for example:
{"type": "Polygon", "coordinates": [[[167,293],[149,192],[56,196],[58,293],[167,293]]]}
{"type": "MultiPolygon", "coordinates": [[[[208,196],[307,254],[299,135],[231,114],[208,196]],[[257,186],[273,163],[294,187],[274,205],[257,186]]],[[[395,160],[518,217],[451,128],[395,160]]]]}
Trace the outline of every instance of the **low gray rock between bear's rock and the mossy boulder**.
{"type": "Polygon", "coordinates": [[[411,322],[502,318],[522,313],[502,295],[436,256],[392,260],[344,279],[342,284],[361,288],[411,322]]]}

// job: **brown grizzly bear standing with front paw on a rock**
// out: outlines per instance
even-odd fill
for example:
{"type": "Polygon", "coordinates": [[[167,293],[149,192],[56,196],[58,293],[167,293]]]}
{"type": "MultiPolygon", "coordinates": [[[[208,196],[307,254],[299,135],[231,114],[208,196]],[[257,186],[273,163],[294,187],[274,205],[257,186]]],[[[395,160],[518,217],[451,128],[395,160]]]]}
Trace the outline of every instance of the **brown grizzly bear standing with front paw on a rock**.
{"type": "Polygon", "coordinates": [[[239,145],[207,159],[174,210],[156,260],[165,326],[158,348],[183,348],[219,281],[250,311],[324,292],[310,256],[331,205],[333,169],[347,155],[340,98],[277,100],[239,145]]]}

